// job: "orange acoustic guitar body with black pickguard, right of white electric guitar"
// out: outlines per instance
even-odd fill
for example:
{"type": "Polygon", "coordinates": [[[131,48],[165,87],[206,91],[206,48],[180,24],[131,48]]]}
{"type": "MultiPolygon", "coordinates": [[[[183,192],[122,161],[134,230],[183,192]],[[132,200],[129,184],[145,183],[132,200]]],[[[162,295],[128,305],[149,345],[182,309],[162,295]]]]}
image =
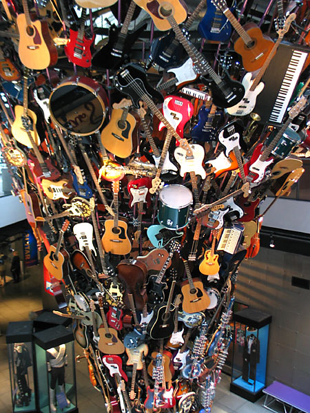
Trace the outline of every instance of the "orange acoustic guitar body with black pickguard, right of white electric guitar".
{"type": "Polygon", "coordinates": [[[132,251],[132,244],[127,235],[127,222],[119,219],[114,228],[114,220],[105,220],[105,233],[101,238],[105,252],[115,255],[126,255],[132,251]]]}

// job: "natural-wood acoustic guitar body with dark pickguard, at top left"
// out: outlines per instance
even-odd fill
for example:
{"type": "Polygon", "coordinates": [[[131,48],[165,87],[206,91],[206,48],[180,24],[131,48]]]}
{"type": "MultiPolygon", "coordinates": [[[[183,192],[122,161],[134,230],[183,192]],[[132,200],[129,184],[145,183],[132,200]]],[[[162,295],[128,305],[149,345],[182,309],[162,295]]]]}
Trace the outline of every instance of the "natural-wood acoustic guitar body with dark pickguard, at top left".
{"type": "Polygon", "coordinates": [[[32,70],[44,70],[54,66],[58,60],[56,46],[50,37],[48,23],[35,20],[27,25],[25,14],[17,16],[19,38],[19,59],[32,70]]]}

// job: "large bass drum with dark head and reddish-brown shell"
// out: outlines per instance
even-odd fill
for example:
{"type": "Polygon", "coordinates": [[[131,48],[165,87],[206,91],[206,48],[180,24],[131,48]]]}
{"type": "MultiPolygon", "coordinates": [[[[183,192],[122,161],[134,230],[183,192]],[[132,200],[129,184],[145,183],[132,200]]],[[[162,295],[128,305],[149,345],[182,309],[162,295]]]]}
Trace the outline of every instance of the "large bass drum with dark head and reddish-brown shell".
{"type": "Polygon", "coordinates": [[[109,101],[103,87],[86,76],[66,78],[50,95],[50,117],[70,134],[87,136],[105,120],[109,101]]]}

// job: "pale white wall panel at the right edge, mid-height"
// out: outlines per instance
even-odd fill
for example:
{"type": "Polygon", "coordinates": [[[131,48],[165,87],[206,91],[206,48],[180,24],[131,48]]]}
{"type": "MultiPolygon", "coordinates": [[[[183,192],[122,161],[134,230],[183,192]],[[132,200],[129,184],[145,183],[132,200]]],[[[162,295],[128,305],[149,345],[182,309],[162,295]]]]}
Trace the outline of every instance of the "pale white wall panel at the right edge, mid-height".
{"type": "MultiPolygon", "coordinates": [[[[260,207],[263,213],[273,198],[266,198],[260,207]]],[[[263,226],[310,233],[310,202],[279,198],[267,212],[263,226]]]]}

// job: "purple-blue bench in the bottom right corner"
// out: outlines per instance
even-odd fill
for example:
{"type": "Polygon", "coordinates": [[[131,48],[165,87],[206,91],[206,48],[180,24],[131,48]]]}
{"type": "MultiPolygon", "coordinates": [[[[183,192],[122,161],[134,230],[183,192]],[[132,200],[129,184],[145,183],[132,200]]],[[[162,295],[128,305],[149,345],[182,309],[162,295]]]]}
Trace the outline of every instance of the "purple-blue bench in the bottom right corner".
{"type": "MultiPolygon", "coordinates": [[[[273,381],[271,385],[262,390],[266,394],[263,407],[271,410],[274,413],[293,413],[293,409],[297,409],[296,413],[310,413],[310,396],[298,390],[290,388],[288,385],[273,381]],[[283,410],[274,410],[271,405],[278,402],[278,407],[283,410]],[[280,403],[280,406],[279,406],[280,403]]],[[[274,407],[274,406],[273,406],[274,407]]]]}

